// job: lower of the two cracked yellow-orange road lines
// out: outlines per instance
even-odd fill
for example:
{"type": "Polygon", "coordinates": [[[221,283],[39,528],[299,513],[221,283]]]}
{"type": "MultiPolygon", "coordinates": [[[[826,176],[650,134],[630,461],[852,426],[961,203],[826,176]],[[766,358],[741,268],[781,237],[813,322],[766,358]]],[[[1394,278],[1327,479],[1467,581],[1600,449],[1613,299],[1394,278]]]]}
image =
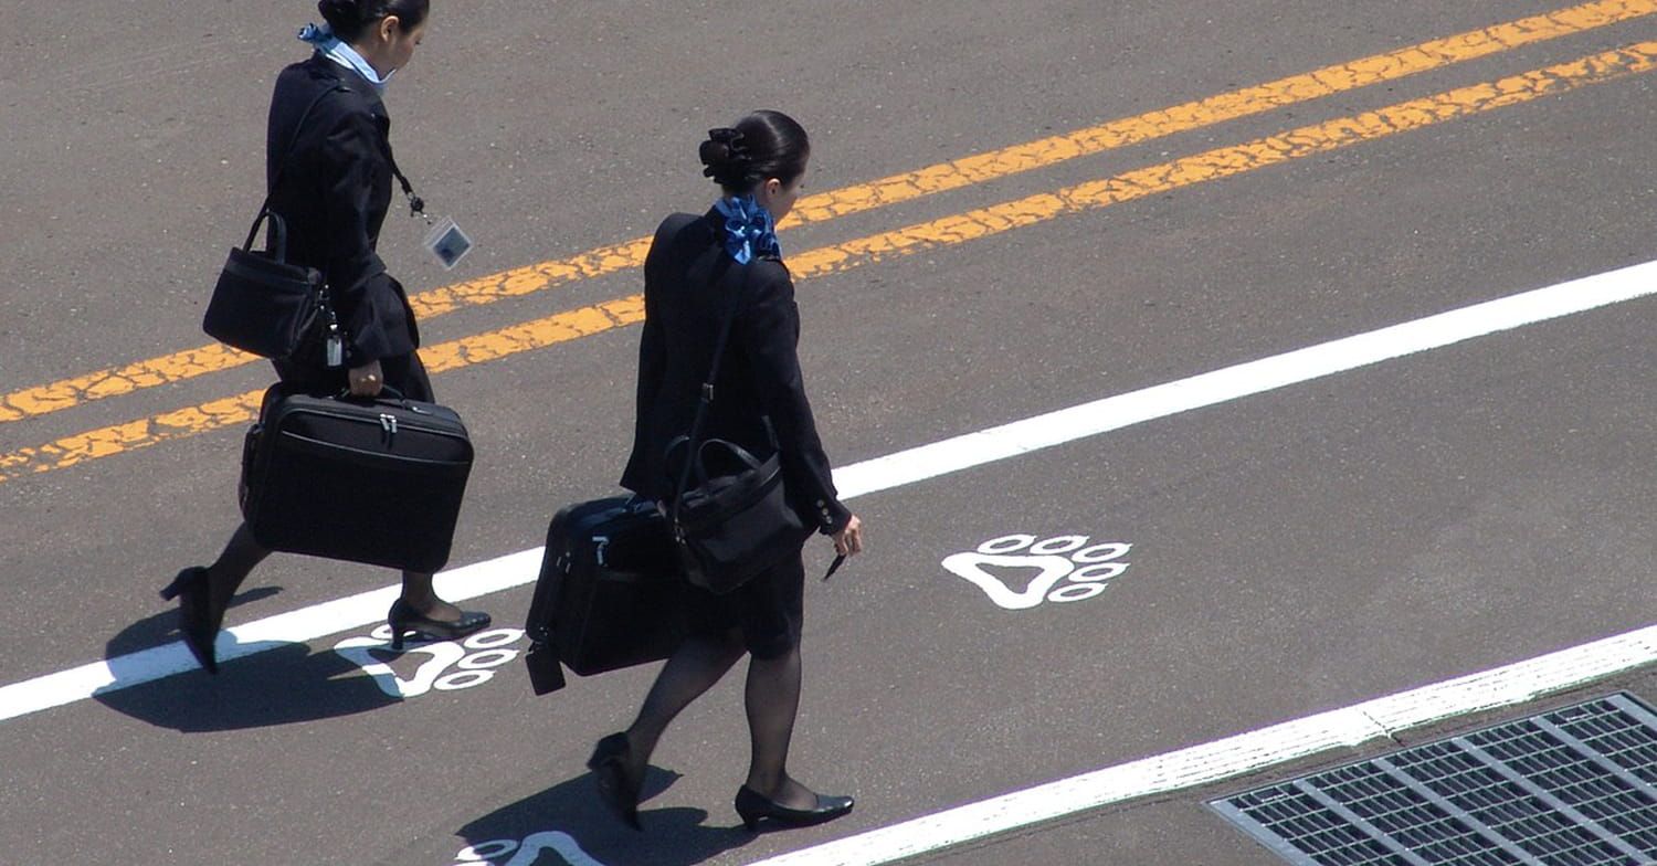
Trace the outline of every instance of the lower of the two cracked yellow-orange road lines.
{"type": "MultiPolygon", "coordinates": [[[[1410,99],[1350,118],[1309,124],[1233,147],[1218,147],[1104,180],[1079,184],[1051,194],[1029,195],[848,243],[809,250],[790,257],[789,267],[797,278],[842,273],[886,258],[966,243],[1049,222],[1067,214],[1097,210],[1147,195],[1221,180],[1292,159],[1304,159],[1399,132],[1529,103],[1587,84],[1647,73],[1654,68],[1657,68],[1657,41],[1644,41],[1617,51],[1559,63],[1500,81],[1410,99]]],[[[426,359],[434,373],[441,373],[568,343],[643,320],[643,296],[631,295],[537,321],[514,325],[512,328],[431,346],[421,349],[421,358],[426,359]]],[[[258,392],[255,391],[239,397],[205,402],[177,412],[166,412],[149,419],[71,435],[38,449],[0,454],[0,482],[71,467],[85,460],[151,447],[232,424],[245,424],[254,419],[257,411],[258,392]]]]}

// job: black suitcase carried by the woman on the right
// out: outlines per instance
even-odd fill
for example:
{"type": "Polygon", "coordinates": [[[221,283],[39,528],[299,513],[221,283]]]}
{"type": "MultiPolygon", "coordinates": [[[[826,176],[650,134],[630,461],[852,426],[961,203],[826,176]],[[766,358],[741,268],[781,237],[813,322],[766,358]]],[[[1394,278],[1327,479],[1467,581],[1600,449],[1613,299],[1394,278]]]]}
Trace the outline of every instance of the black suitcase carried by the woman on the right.
{"type": "Polygon", "coordinates": [[[524,629],[535,694],[563,687],[560,662],[585,677],[666,659],[684,639],[683,591],[655,503],[610,497],[560,510],[524,629]]]}

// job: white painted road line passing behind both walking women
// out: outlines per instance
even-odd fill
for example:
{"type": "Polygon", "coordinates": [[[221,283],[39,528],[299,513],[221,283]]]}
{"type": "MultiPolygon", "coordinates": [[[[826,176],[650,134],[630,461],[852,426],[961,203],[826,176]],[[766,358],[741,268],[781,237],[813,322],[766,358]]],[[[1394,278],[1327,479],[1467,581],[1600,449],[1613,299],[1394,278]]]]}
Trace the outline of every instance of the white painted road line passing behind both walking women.
{"type": "MultiPolygon", "coordinates": [[[[890,490],[1118,431],[1143,421],[1640,298],[1654,291],[1657,291],[1657,262],[1647,262],[877,457],[835,470],[835,485],[843,498],[890,490]]],[[[532,583],[539,568],[540,548],[525,550],[446,571],[437,576],[437,591],[444,598],[466,601],[532,583]]],[[[227,634],[219,636],[219,657],[229,661],[280,644],[305,642],[378,623],[394,598],[396,588],[374,589],[235,626],[227,634]]],[[[192,667],[184,646],[172,642],[17,682],[0,687],[0,722],[61,707],[94,694],[129,689],[192,667]]]]}

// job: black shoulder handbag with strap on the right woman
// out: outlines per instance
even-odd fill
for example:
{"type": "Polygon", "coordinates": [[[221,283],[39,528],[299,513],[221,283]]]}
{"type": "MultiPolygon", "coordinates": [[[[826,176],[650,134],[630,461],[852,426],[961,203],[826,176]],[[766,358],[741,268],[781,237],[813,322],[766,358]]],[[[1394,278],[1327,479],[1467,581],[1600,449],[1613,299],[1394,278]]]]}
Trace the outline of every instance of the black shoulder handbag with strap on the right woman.
{"type": "Polygon", "coordinates": [[[789,505],[782,460],[775,454],[759,460],[736,442],[703,440],[719,361],[741,300],[737,293],[719,326],[714,361],[703,382],[691,432],[668,444],[666,460],[666,465],[674,465],[674,452],[683,449],[678,455],[679,484],[668,502],[668,525],[684,576],[716,594],[729,593],[782,558],[799,555],[812,533],[789,505]],[[696,487],[689,487],[693,475],[696,487]]]}

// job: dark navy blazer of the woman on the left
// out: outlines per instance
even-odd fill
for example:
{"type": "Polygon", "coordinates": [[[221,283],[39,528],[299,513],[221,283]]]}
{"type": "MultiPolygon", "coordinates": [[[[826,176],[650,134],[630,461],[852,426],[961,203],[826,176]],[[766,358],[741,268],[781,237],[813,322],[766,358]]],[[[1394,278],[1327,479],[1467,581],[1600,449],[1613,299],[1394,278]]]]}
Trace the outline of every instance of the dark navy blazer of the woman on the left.
{"type": "Polygon", "coordinates": [[[379,93],[355,70],[312,55],[277,76],[265,162],[270,207],[287,222],[288,258],[326,278],[353,368],[419,348],[408,295],[374,252],[391,205],[389,131],[379,93]],[[305,106],[326,89],[333,93],[283,154],[305,106]]]}

